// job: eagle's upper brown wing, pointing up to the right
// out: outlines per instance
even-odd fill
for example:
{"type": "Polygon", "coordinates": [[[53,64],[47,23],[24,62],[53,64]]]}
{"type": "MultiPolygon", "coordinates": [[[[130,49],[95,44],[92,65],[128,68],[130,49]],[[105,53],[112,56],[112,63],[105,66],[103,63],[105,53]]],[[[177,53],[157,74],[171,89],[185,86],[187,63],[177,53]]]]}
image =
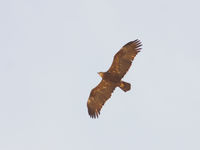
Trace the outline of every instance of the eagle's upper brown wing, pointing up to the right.
{"type": "Polygon", "coordinates": [[[141,50],[141,42],[139,40],[131,41],[124,45],[118,52],[115,54],[113,63],[109,68],[108,72],[112,73],[114,76],[118,76],[120,79],[126,74],[129,70],[133,59],[141,50]]]}

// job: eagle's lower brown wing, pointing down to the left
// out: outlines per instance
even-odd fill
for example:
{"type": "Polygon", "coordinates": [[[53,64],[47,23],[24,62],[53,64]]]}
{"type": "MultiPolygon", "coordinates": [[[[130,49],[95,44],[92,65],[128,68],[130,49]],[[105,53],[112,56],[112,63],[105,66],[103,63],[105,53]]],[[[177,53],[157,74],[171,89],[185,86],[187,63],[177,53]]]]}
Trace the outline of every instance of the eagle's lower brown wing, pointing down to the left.
{"type": "Polygon", "coordinates": [[[98,118],[104,103],[111,97],[116,85],[112,82],[101,80],[101,82],[92,89],[88,102],[88,113],[92,118],[98,118]]]}

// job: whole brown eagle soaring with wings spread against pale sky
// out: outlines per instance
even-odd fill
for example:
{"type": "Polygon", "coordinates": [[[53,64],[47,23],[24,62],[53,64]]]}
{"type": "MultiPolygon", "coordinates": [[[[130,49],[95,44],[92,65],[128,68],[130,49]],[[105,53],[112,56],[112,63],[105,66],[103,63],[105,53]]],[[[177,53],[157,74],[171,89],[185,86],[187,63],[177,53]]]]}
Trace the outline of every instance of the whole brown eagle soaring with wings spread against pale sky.
{"type": "Polygon", "coordinates": [[[98,118],[104,103],[111,97],[116,87],[124,92],[131,89],[131,84],[122,81],[126,72],[129,70],[133,59],[141,50],[140,40],[130,41],[125,44],[114,56],[112,65],[106,72],[98,72],[101,82],[91,90],[87,108],[91,118],[98,118]]]}

